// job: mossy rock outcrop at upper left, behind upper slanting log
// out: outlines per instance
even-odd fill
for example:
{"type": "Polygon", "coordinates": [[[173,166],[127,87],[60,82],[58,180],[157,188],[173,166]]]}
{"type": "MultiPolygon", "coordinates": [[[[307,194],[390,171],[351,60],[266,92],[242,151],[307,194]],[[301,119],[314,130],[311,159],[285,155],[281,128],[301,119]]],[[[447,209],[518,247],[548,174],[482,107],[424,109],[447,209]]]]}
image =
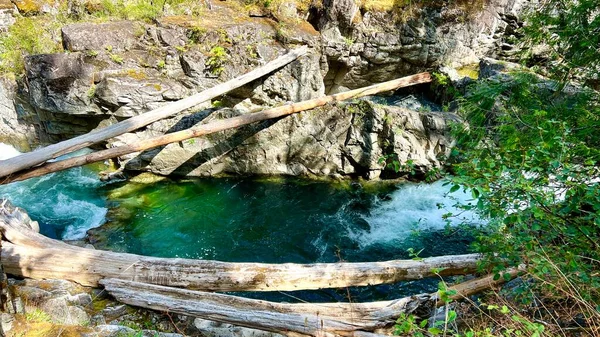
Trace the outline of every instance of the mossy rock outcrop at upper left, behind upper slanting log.
{"type": "Polygon", "coordinates": [[[26,57],[22,100],[30,104],[35,123],[49,141],[59,141],[238,77],[297,44],[313,48],[230,96],[275,105],[323,95],[319,35],[314,29],[299,29],[300,38],[288,46],[277,38],[272,20],[237,18],[241,14],[226,7],[218,11],[227,12],[229,19],[203,21],[206,27],[200,28],[193,18],[164,18],[160,25],[66,25],[61,37],[67,53],[26,57]]]}

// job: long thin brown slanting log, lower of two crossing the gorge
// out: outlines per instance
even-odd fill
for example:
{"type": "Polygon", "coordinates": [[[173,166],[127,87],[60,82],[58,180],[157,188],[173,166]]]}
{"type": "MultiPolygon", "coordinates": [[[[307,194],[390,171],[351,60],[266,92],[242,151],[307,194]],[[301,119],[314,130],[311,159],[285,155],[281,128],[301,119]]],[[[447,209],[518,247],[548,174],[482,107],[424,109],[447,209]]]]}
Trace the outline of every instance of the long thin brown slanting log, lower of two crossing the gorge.
{"type": "MultiPolygon", "coordinates": [[[[277,117],[282,117],[286,115],[290,115],[293,113],[313,109],[319,106],[323,106],[327,103],[343,101],[350,98],[358,98],[368,95],[374,95],[384,91],[390,91],[410,85],[420,84],[420,83],[428,83],[431,82],[431,76],[429,73],[420,73],[412,76],[403,77],[400,79],[396,79],[393,81],[388,81],[384,83],[375,84],[369,87],[355,89],[346,91],[343,93],[324,96],[315,99],[311,99],[308,101],[303,101],[299,103],[288,104],[268,110],[264,110],[261,112],[250,113],[238,117],[227,118],[224,120],[214,121],[208,124],[198,125],[188,130],[178,131],[169,133],[160,137],[151,138],[147,140],[139,141],[135,144],[128,144],[123,146],[118,146],[114,148],[110,148],[103,151],[94,152],[88,155],[83,155],[79,157],[69,158],[53,163],[45,164],[41,167],[33,168],[28,171],[18,172],[12,176],[7,177],[2,183],[9,183],[12,181],[19,181],[24,179],[29,179],[41,175],[45,175],[52,172],[57,172],[61,170],[65,170],[71,167],[81,166],[97,161],[102,161],[110,158],[119,157],[122,155],[126,155],[129,153],[144,151],[148,149],[152,149],[158,146],[179,142],[182,140],[186,140],[189,138],[195,138],[211,133],[215,133],[218,131],[223,131],[227,129],[237,128],[243,125],[251,124],[254,122],[259,122],[267,119],[273,119],[277,117]]],[[[0,162],[0,170],[2,170],[2,162],[0,162]]],[[[13,171],[14,172],[14,171],[13,171]]],[[[2,176],[2,172],[0,171],[0,177],[2,176]]]]}

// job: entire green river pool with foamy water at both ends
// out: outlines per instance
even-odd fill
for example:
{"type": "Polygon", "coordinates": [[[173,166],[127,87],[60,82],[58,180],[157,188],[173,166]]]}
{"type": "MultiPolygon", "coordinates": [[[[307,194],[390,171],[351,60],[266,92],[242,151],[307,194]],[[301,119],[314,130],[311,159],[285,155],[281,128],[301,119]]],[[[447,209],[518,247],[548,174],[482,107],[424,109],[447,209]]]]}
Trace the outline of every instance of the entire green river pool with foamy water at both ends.
{"type": "MultiPolygon", "coordinates": [[[[18,154],[0,144],[0,156],[18,154]]],[[[2,159],[2,157],[0,157],[2,159]]],[[[43,234],[97,248],[162,257],[270,263],[381,261],[468,252],[471,236],[446,222],[458,199],[442,181],[369,186],[296,178],[98,180],[101,165],[0,186],[43,234]]],[[[467,220],[476,219],[463,213],[467,220]]],[[[374,287],[357,297],[429,291],[436,281],[374,287]],[[390,288],[392,287],[392,288],[390,288]],[[390,289],[393,289],[390,290],[390,289]],[[380,293],[379,295],[377,295],[380,293]]],[[[342,296],[342,295],[340,295],[342,296]]],[[[314,300],[315,297],[308,297],[314,300]]],[[[340,300],[323,293],[316,300],[340,300]],[[324,296],[321,298],[320,296],[324,296]]]]}

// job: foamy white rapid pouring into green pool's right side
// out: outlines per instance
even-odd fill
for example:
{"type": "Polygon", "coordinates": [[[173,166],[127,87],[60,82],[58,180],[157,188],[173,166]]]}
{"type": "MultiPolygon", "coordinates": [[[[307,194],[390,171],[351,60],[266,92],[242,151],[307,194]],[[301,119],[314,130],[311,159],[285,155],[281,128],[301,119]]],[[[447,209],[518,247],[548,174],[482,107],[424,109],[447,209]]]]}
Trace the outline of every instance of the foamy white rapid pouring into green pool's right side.
{"type": "Polygon", "coordinates": [[[370,229],[352,229],[348,236],[364,248],[374,244],[397,244],[408,238],[415,230],[440,230],[460,223],[481,224],[474,212],[454,207],[457,201],[476,202],[467,193],[456,191],[448,195],[451,185],[443,181],[433,184],[407,184],[391,194],[390,200],[379,201],[364,218],[370,229]],[[443,218],[444,214],[460,214],[443,218]]]}

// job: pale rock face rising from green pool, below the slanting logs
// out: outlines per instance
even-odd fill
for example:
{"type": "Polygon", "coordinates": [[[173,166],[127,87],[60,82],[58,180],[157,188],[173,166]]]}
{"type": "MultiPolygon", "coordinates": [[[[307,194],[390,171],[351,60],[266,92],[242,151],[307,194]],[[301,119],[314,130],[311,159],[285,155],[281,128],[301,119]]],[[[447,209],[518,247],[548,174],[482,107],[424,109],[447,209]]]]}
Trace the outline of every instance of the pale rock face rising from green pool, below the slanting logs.
{"type": "MultiPolygon", "coordinates": [[[[145,131],[117,137],[111,146],[135,143],[167,130],[188,128],[244,113],[225,109],[174,118],[145,131]]],[[[450,113],[416,112],[367,101],[328,106],[278,121],[136,153],[126,168],[163,175],[359,176],[367,179],[394,175],[388,163],[398,161],[418,173],[441,165],[452,146],[450,113]]],[[[401,167],[400,171],[409,170],[401,167]]]]}

